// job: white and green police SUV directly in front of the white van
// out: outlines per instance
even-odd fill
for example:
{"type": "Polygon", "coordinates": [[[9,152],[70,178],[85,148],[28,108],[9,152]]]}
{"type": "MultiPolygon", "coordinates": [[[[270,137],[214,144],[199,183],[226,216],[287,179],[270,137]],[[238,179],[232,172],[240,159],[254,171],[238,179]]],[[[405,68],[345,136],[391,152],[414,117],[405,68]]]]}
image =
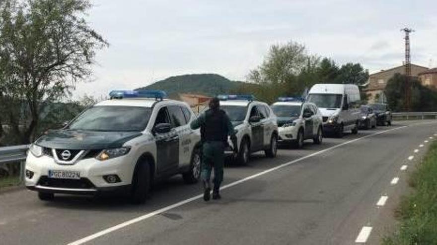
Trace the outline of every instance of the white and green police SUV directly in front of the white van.
{"type": "Polygon", "coordinates": [[[301,148],[307,139],[314,144],[322,143],[322,114],[317,105],[304,102],[303,98],[280,97],[271,107],[278,117],[280,144],[301,148]]]}

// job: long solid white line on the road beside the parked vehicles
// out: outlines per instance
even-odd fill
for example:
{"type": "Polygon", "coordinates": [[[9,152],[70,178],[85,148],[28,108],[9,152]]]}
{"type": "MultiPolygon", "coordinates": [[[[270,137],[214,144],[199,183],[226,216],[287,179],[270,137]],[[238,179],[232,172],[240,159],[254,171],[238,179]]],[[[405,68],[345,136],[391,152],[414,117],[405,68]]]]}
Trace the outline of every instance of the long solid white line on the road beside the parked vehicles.
{"type": "MultiPolygon", "coordinates": [[[[408,126],[402,126],[402,127],[398,127],[398,128],[387,129],[387,130],[384,130],[384,131],[376,132],[376,133],[371,134],[371,135],[366,135],[366,136],[363,136],[363,137],[357,138],[357,139],[355,139],[355,140],[351,140],[351,141],[343,142],[343,143],[341,143],[341,144],[339,144],[339,145],[336,145],[336,146],[333,146],[333,147],[329,147],[329,148],[326,148],[326,149],[323,149],[323,150],[320,150],[320,151],[314,152],[314,153],[309,154],[309,155],[306,155],[306,156],[302,156],[302,157],[300,157],[300,158],[298,158],[298,159],[295,159],[295,160],[293,160],[293,161],[291,161],[291,162],[287,162],[287,163],[284,163],[284,164],[278,165],[278,166],[276,166],[276,167],[274,167],[274,168],[270,168],[270,169],[264,170],[264,171],[262,171],[262,172],[259,172],[259,173],[257,173],[257,174],[254,174],[254,175],[248,176],[248,177],[246,177],[246,178],[244,178],[244,179],[237,180],[237,181],[235,181],[235,182],[229,183],[229,184],[227,184],[227,185],[224,185],[220,190],[224,190],[224,189],[230,188],[230,187],[232,187],[232,186],[239,185],[239,184],[244,183],[244,182],[247,182],[247,181],[249,181],[249,180],[251,180],[251,179],[255,179],[255,178],[259,177],[259,176],[262,176],[262,175],[265,175],[265,174],[267,174],[267,173],[273,172],[273,171],[275,171],[275,170],[278,170],[278,169],[281,169],[281,168],[287,167],[287,166],[289,166],[289,165],[291,165],[291,164],[294,164],[294,163],[296,163],[296,162],[299,162],[299,161],[302,161],[302,160],[304,160],[304,159],[307,159],[307,158],[313,157],[313,156],[315,156],[315,155],[319,155],[319,154],[321,154],[321,153],[324,153],[324,152],[330,151],[330,150],[332,150],[332,149],[335,149],[335,148],[338,148],[338,147],[342,147],[342,146],[345,146],[345,145],[349,145],[349,144],[354,143],[354,142],[357,142],[357,141],[359,141],[359,140],[366,139],[366,138],[369,138],[369,137],[372,137],[372,136],[375,136],[375,135],[383,134],[383,133],[388,132],[388,131],[398,130],[398,129],[402,129],[402,128],[406,128],[406,127],[408,127],[408,126]]],[[[158,214],[160,214],[160,213],[166,212],[166,211],[171,210],[171,209],[173,209],[173,208],[176,208],[176,207],[182,206],[182,205],[184,205],[184,204],[186,204],[186,203],[192,202],[192,201],[194,201],[194,200],[196,200],[196,199],[199,199],[199,198],[201,198],[201,197],[203,197],[203,195],[193,196],[193,197],[190,197],[190,198],[188,198],[188,199],[182,200],[182,201],[180,201],[180,202],[176,202],[176,203],[174,203],[174,204],[171,204],[171,205],[169,205],[169,206],[166,206],[166,207],[163,207],[163,208],[157,209],[157,210],[155,210],[155,211],[153,211],[153,212],[150,212],[150,213],[146,213],[146,214],[144,214],[144,215],[142,215],[142,216],[139,216],[139,217],[137,217],[137,218],[134,218],[134,219],[128,220],[128,221],[123,222],[123,223],[121,223],[121,224],[118,224],[118,225],[115,225],[115,226],[109,227],[109,228],[107,228],[107,229],[105,229],[105,230],[99,231],[99,232],[97,232],[97,233],[94,233],[94,234],[92,234],[92,235],[89,235],[89,236],[87,236],[87,237],[84,237],[84,238],[82,238],[82,239],[80,239],[80,240],[74,241],[74,242],[72,242],[72,243],[70,243],[70,244],[68,244],[68,245],[81,245],[81,244],[87,243],[87,242],[89,242],[89,241],[91,241],[91,240],[94,240],[94,239],[96,239],[96,238],[99,238],[99,237],[101,237],[101,236],[104,236],[104,235],[106,235],[106,234],[109,234],[109,233],[114,232],[114,231],[116,231],[116,230],[122,229],[122,228],[124,228],[124,227],[130,226],[130,225],[133,225],[133,224],[138,223],[138,222],[140,222],[140,221],[146,220],[146,219],[148,219],[148,218],[150,218],[150,217],[153,217],[153,216],[158,215],[158,214]]]]}

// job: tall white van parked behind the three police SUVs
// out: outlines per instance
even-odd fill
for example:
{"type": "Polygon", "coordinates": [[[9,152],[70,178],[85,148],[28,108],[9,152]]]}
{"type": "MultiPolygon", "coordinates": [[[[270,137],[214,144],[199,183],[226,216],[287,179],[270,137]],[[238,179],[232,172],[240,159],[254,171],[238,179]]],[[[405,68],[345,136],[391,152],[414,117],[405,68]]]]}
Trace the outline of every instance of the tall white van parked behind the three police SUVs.
{"type": "Polygon", "coordinates": [[[358,133],[360,90],[353,84],[315,84],[308,92],[308,102],[322,113],[323,132],[343,137],[345,131],[358,133]]]}

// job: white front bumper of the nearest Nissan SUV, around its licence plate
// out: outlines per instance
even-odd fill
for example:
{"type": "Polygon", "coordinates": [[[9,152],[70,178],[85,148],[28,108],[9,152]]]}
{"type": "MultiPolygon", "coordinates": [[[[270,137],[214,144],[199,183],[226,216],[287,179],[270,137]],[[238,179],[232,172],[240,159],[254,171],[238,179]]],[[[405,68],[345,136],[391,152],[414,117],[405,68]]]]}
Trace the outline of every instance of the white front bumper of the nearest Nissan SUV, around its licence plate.
{"type": "Polygon", "coordinates": [[[106,161],[95,158],[78,160],[73,165],[61,165],[50,156],[35,157],[29,153],[26,170],[32,171],[31,178],[26,176],[25,185],[29,190],[46,193],[95,195],[104,192],[117,192],[130,188],[135,164],[128,155],[106,161]],[[77,171],[79,180],[49,178],[49,170],[77,171]],[[119,182],[108,183],[103,176],[117,175],[119,182]]]}

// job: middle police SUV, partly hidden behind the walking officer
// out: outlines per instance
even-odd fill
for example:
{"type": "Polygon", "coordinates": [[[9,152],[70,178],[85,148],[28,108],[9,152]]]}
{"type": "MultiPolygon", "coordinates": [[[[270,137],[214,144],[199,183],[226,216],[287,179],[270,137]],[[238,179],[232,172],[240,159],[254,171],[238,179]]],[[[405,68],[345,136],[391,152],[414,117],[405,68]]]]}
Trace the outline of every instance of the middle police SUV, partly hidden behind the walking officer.
{"type": "MultiPolygon", "coordinates": [[[[222,95],[220,108],[224,110],[238,131],[238,155],[240,164],[249,161],[250,153],[264,150],[269,157],[275,157],[278,147],[278,126],[276,116],[267,103],[254,100],[253,96],[222,95]]],[[[229,141],[231,147],[232,143],[229,141]]],[[[232,150],[227,149],[226,154],[232,150]]]]}

